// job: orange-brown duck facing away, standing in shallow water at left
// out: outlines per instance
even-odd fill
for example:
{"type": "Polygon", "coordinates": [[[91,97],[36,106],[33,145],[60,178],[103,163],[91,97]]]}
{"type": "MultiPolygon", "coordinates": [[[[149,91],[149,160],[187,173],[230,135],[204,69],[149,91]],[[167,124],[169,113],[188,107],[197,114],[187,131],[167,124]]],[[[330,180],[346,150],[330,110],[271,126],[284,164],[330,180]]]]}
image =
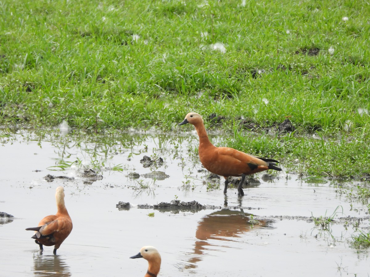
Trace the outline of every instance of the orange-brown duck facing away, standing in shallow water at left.
{"type": "Polygon", "coordinates": [[[38,223],[38,227],[26,229],[35,231],[35,235],[31,238],[35,239],[35,242],[40,245],[40,253],[43,253],[43,245],[54,245],[53,253],[57,254],[60,244],[62,244],[72,230],[72,220],[64,205],[63,187],[57,187],[55,199],[57,200],[57,213],[55,215],[45,216],[38,223]]]}

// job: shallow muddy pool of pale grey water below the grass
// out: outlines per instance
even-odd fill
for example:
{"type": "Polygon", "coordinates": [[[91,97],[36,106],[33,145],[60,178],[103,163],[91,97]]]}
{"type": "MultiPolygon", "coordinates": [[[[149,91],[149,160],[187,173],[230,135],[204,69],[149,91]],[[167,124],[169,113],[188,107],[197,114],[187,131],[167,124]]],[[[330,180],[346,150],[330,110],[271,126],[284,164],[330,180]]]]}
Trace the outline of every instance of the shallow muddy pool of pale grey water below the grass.
{"type": "Polygon", "coordinates": [[[202,170],[197,145],[194,132],[3,134],[0,212],[8,216],[0,217],[0,275],[144,276],[147,262],[129,257],[153,245],[162,256],[159,276],[369,276],[369,250],[350,247],[354,225],[369,230],[367,208],[337,187],[357,183],[281,171],[255,175],[260,183],[243,198],[236,189],[224,196],[223,180],[202,170]],[[40,255],[24,229],[56,212],[60,185],[73,230],[56,256],[53,247],[40,255]],[[335,221],[322,229],[312,215],[335,221]]]}

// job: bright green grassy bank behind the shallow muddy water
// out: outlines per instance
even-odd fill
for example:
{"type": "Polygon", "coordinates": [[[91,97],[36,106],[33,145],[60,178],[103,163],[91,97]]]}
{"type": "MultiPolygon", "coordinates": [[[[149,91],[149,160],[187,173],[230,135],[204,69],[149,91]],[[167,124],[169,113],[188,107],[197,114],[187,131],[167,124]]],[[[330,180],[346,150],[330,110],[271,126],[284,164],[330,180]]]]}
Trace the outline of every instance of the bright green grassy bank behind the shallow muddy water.
{"type": "Polygon", "coordinates": [[[369,14],[349,0],[0,1],[0,125],[169,131],[196,111],[209,129],[215,113],[239,134],[229,146],[366,176],[369,14]],[[286,117],[294,134],[240,131],[286,117]]]}

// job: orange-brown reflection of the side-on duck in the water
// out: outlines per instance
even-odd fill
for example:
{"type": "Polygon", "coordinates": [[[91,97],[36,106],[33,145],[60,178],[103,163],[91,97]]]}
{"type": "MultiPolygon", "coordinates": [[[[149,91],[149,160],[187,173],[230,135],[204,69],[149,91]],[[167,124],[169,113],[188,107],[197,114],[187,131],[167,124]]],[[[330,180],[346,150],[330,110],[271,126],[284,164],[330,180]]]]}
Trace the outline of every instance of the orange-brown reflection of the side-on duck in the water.
{"type": "Polygon", "coordinates": [[[237,241],[242,233],[256,230],[258,228],[272,228],[273,220],[253,220],[250,213],[223,209],[206,215],[198,222],[195,232],[196,242],[192,258],[185,268],[195,268],[196,263],[202,260],[202,254],[208,246],[222,246],[223,242],[237,241]],[[210,243],[209,240],[213,240],[210,243]],[[220,241],[220,242],[217,242],[220,241]]]}

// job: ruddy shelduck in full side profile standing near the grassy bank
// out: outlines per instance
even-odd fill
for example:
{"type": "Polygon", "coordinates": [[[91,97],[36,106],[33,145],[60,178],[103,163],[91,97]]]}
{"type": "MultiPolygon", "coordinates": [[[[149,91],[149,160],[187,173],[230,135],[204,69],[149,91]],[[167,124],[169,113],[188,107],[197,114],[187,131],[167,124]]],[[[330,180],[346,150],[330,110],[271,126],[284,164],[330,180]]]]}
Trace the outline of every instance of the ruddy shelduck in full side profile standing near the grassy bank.
{"type": "Polygon", "coordinates": [[[206,170],[225,178],[225,188],[223,189],[225,194],[228,188],[229,176],[242,177],[238,186],[238,195],[244,196],[242,185],[246,175],[269,169],[281,170],[281,168],[276,167],[278,161],[248,155],[230,147],[214,146],[209,141],[203,119],[198,113],[186,114],[184,121],[179,125],[186,123],[193,124],[198,133],[199,158],[202,165],[206,170]]]}

